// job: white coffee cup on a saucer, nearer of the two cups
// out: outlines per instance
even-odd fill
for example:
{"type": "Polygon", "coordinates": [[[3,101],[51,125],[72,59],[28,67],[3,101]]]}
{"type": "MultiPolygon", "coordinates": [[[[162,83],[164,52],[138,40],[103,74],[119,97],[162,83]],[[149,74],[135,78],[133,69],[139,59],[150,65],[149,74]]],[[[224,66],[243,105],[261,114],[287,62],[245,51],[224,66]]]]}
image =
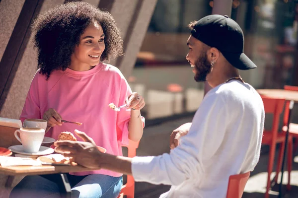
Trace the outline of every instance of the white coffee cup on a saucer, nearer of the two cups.
{"type": "Polygon", "coordinates": [[[41,128],[20,128],[14,132],[14,136],[22,143],[25,152],[37,153],[45,136],[45,130],[41,128]],[[20,137],[18,137],[18,132],[20,137]]]}

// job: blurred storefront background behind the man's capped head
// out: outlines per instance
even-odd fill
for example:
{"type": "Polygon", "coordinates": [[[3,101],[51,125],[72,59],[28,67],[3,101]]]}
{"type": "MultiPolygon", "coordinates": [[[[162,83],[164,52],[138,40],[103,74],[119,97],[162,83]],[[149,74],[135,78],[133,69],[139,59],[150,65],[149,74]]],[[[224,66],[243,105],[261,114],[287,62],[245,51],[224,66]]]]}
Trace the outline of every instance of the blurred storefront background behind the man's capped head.
{"type": "MultiPolygon", "coordinates": [[[[147,99],[147,120],[194,113],[204,83],[193,80],[185,60],[187,25],[212,13],[213,0],[157,0],[132,75],[135,91],[147,99]]],[[[298,1],[233,0],[231,18],[241,26],[244,52],[258,66],[240,71],[255,88],[293,84],[297,64],[298,1]]]]}

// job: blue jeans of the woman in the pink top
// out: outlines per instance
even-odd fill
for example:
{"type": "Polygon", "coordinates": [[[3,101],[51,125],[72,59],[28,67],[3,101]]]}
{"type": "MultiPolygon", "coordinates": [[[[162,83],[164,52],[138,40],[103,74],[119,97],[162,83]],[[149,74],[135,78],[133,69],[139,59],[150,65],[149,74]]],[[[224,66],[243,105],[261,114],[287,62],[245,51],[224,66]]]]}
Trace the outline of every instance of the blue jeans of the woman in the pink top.
{"type": "MultiPolygon", "coordinates": [[[[117,198],[121,191],[122,177],[66,175],[72,198],[117,198]]],[[[9,198],[61,198],[64,191],[60,174],[26,176],[12,189],[9,198]]]]}

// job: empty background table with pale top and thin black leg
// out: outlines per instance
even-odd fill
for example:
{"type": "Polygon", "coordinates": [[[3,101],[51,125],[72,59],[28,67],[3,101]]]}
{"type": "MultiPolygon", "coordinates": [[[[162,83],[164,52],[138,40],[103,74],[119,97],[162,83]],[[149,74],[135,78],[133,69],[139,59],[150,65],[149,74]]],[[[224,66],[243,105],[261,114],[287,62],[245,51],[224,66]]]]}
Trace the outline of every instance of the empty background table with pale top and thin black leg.
{"type": "MultiPolygon", "coordinates": [[[[257,89],[257,92],[260,95],[270,97],[270,98],[283,98],[285,100],[291,101],[294,105],[294,102],[298,102],[298,91],[292,91],[292,90],[285,90],[285,89],[257,89]]],[[[292,112],[293,106],[290,105],[290,112],[289,112],[289,123],[288,123],[288,129],[286,132],[286,142],[288,142],[289,137],[289,124],[291,122],[291,112],[292,112]]],[[[283,175],[284,175],[284,164],[286,159],[286,153],[287,153],[287,143],[285,144],[285,150],[284,150],[284,157],[283,157],[283,164],[282,164],[282,177],[281,177],[281,183],[279,187],[279,198],[282,197],[282,181],[283,181],[283,175]]]]}

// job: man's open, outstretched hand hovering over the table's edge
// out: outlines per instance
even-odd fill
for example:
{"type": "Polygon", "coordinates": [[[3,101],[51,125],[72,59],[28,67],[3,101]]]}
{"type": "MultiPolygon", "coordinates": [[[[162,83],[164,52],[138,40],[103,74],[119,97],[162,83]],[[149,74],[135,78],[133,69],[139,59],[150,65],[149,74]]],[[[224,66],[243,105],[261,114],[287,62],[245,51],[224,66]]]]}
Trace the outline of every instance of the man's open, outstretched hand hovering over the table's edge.
{"type": "Polygon", "coordinates": [[[100,169],[101,152],[97,149],[95,142],[84,132],[74,130],[74,132],[82,138],[83,141],[56,141],[55,151],[66,157],[72,157],[73,162],[92,169],[100,169]]]}

